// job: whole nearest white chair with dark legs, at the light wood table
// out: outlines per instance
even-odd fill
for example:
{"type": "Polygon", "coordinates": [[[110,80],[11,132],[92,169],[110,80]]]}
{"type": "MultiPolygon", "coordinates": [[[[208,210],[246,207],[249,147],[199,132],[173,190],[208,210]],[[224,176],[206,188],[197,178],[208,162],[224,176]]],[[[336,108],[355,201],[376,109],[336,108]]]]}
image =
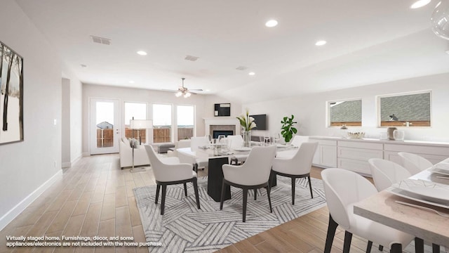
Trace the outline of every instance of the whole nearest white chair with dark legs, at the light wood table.
{"type": "Polygon", "coordinates": [[[368,240],[366,252],[371,251],[373,242],[388,247],[390,252],[402,252],[402,248],[413,240],[413,235],[354,214],[354,203],[377,193],[368,179],[353,171],[335,168],[324,169],[321,171],[321,177],[329,209],[325,253],[330,252],[339,225],[345,230],[343,245],[345,253],[349,252],[353,234],[368,240]]]}

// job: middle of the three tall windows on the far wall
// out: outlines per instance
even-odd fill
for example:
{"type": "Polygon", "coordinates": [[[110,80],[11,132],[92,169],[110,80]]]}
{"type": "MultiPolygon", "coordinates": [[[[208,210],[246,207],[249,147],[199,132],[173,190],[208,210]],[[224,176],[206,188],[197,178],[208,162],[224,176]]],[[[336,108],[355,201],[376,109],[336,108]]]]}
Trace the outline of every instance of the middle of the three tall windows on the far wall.
{"type": "Polygon", "coordinates": [[[171,142],[171,105],[153,105],[153,142],[168,143],[171,142]]]}

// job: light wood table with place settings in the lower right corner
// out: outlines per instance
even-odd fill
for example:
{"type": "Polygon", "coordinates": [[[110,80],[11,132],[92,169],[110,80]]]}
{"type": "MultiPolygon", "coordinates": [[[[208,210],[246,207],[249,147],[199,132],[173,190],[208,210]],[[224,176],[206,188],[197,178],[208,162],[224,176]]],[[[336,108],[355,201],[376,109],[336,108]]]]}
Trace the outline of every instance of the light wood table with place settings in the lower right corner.
{"type": "Polygon", "coordinates": [[[354,214],[431,242],[434,247],[448,247],[449,163],[444,164],[447,170],[442,169],[441,173],[436,172],[438,165],[443,164],[435,164],[357,202],[354,214]]]}

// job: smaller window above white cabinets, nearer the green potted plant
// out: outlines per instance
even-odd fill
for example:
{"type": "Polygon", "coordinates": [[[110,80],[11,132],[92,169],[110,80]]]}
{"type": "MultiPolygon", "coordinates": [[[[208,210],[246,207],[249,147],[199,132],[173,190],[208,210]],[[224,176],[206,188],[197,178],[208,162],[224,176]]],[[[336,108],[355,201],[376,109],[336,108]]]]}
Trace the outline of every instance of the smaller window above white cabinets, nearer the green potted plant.
{"type": "Polygon", "coordinates": [[[362,100],[342,100],[328,103],[328,126],[361,126],[362,100]]]}

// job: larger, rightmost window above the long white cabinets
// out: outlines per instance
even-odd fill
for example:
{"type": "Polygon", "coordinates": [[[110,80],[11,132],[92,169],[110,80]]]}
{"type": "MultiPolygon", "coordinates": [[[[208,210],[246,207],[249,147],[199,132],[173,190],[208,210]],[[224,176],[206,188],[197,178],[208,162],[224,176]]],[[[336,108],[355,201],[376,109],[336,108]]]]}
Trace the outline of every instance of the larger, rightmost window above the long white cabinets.
{"type": "Polygon", "coordinates": [[[431,126],[431,92],[401,93],[377,98],[380,126],[431,126]]]}

